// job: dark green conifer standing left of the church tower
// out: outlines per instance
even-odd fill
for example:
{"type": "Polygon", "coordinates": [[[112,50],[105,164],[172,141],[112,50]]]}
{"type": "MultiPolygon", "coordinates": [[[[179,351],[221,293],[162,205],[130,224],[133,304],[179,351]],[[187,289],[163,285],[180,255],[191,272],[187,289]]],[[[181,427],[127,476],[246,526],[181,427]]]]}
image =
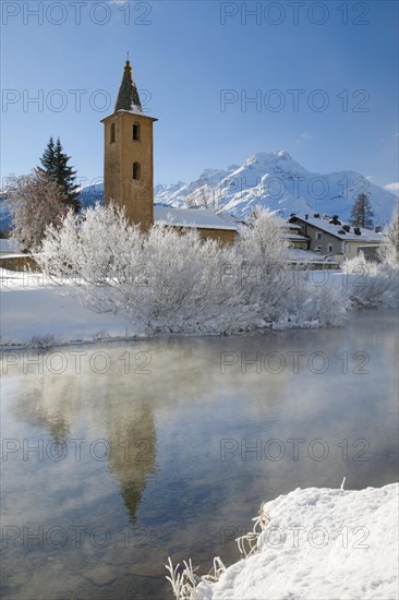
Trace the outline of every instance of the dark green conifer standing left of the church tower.
{"type": "Polygon", "coordinates": [[[78,202],[78,192],[76,191],[77,185],[75,184],[76,171],[68,165],[70,158],[70,156],[64,154],[60,139],[58,137],[57,144],[55,144],[53,139],[50,137],[40,158],[43,168],[39,167],[38,170],[46,172],[52,181],[63,189],[65,192],[65,205],[77,212],[81,204],[78,202]]]}

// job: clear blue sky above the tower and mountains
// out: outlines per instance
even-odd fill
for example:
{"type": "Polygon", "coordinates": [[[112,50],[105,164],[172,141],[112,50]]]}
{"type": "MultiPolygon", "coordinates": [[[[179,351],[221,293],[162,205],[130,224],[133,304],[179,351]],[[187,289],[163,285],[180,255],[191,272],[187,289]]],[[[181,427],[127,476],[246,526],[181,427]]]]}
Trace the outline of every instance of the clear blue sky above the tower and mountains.
{"type": "Polygon", "coordinates": [[[159,119],[157,183],[281,148],[311,171],[399,180],[395,1],[3,0],[1,9],[2,177],[28,172],[59,135],[81,181],[101,178],[100,119],[130,50],[142,101],[159,119]]]}

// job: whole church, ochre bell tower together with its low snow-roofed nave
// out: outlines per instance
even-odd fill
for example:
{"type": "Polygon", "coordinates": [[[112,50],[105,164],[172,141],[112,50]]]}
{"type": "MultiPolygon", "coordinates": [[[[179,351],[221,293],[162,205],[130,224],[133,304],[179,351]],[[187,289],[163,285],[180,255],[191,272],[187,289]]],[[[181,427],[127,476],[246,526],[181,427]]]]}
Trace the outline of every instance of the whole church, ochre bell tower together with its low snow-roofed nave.
{"type": "Polygon", "coordinates": [[[153,125],[156,121],[143,111],[128,60],[113,113],[101,121],[106,206],[110,202],[124,206],[130,223],[140,225],[144,232],[161,220],[179,231],[195,228],[205,239],[233,243],[237,227],[213,211],[154,205],[153,125]]]}

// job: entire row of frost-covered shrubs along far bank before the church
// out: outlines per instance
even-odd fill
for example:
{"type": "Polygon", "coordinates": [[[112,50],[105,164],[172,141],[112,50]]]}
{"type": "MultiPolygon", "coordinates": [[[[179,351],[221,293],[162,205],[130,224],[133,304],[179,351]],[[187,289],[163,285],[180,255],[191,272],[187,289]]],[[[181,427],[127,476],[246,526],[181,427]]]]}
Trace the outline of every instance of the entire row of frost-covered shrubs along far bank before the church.
{"type": "Polygon", "coordinates": [[[162,223],[144,235],[123,209],[97,205],[50,226],[36,260],[56,284],[73,284],[86,305],[122,313],[147,333],[337,323],[338,292],[292,281],[285,250],[281,226],[266,211],[237,244],[220,245],[162,223]]]}

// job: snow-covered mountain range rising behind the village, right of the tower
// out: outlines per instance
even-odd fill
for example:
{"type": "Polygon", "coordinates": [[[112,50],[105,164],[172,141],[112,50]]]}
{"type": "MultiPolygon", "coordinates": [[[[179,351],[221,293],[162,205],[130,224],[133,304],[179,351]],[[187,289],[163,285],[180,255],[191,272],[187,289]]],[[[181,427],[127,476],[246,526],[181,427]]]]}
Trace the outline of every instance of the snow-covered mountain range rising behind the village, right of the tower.
{"type": "Polygon", "coordinates": [[[183,185],[157,185],[156,202],[181,208],[218,205],[243,217],[258,205],[288,217],[291,213],[321,213],[350,218],[359,193],[365,192],[374,211],[374,224],[391,218],[396,196],[354,171],[327,175],[311,172],[286,149],[251,155],[241,166],[206,169],[183,185]]]}

